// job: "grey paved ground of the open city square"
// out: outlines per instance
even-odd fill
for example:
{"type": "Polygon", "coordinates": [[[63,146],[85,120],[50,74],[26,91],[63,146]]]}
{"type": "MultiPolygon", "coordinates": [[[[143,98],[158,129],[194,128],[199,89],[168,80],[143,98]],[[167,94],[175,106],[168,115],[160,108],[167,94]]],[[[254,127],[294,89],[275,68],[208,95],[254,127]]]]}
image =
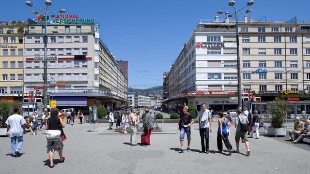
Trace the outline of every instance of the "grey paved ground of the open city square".
{"type": "MultiPolygon", "coordinates": [[[[151,145],[140,143],[129,145],[130,134],[109,134],[106,123],[93,125],[88,123],[66,124],[64,131],[68,137],[64,141],[64,163],[59,163],[58,153],[54,153],[53,169],[48,167],[46,137],[43,131],[37,135],[29,132],[24,135],[22,156],[11,156],[8,137],[0,137],[0,171],[1,174],[290,174],[306,173],[309,169],[310,145],[296,145],[279,138],[260,136],[250,138],[250,156],[246,157],[244,144],[240,153],[227,156],[224,146],[223,154],[217,151],[217,122],[213,122],[210,133],[210,153],[200,153],[200,136],[198,124],[192,125],[191,151],[179,154],[179,131],[177,123],[158,124],[162,132],[151,134],[151,145]],[[301,148],[302,146],[302,148],[301,148]]],[[[113,125],[115,128],[115,125],[113,125]]],[[[235,149],[234,131],[229,139],[235,149]]],[[[185,143],[185,148],[187,143],[185,143]]]]}

